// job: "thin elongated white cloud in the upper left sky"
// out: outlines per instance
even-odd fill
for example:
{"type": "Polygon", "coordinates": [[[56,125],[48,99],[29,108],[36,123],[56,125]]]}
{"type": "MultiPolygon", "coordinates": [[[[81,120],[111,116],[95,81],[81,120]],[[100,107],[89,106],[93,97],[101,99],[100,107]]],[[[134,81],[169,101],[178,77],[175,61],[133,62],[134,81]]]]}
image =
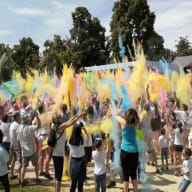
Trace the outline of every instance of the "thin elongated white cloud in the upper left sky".
{"type": "Polygon", "coordinates": [[[10,9],[13,13],[17,15],[24,15],[28,17],[37,17],[37,16],[46,16],[49,15],[49,11],[40,8],[11,8],[10,9]]]}

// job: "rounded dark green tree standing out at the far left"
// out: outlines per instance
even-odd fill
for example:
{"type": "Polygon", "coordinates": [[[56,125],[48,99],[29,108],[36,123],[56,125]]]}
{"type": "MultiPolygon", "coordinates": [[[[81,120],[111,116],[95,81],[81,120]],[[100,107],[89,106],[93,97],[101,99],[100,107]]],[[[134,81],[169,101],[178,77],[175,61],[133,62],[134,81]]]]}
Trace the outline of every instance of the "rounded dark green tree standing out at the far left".
{"type": "Polygon", "coordinates": [[[39,46],[30,37],[23,38],[13,48],[12,58],[15,62],[14,69],[26,78],[27,72],[32,74],[31,69],[39,68],[39,46]]]}

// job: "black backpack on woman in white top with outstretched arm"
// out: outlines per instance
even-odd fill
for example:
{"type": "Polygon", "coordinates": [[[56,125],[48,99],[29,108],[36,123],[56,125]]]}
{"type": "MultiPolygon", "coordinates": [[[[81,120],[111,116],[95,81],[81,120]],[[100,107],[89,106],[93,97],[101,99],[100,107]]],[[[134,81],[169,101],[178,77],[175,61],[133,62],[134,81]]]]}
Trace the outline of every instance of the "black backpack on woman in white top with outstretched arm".
{"type": "Polygon", "coordinates": [[[57,128],[58,125],[54,125],[53,128],[51,128],[50,133],[49,133],[49,137],[47,140],[47,144],[49,147],[54,148],[57,144],[57,141],[61,138],[61,136],[63,135],[64,131],[59,135],[59,137],[57,137],[57,128]]]}

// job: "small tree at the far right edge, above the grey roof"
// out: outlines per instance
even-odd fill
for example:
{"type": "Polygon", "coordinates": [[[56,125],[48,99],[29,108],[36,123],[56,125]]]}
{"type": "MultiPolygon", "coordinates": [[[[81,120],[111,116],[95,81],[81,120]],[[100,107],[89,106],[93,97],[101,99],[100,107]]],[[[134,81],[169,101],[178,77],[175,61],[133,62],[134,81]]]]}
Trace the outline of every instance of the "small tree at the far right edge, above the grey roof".
{"type": "Polygon", "coordinates": [[[187,36],[180,37],[175,47],[176,47],[176,56],[192,55],[191,43],[189,42],[187,36]]]}

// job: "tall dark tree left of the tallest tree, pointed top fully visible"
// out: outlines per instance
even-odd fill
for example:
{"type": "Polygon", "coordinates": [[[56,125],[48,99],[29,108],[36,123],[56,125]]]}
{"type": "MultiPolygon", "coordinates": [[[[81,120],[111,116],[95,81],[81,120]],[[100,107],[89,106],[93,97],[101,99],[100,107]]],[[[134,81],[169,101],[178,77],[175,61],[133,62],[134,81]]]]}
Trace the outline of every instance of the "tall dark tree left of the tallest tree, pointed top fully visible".
{"type": "Polygon", "coordinates": [[[71,63],[78,71],[82,67],[107,63],[108,50],[105,28],[85,7],[78,7],[72,13],[71,63]]]}

